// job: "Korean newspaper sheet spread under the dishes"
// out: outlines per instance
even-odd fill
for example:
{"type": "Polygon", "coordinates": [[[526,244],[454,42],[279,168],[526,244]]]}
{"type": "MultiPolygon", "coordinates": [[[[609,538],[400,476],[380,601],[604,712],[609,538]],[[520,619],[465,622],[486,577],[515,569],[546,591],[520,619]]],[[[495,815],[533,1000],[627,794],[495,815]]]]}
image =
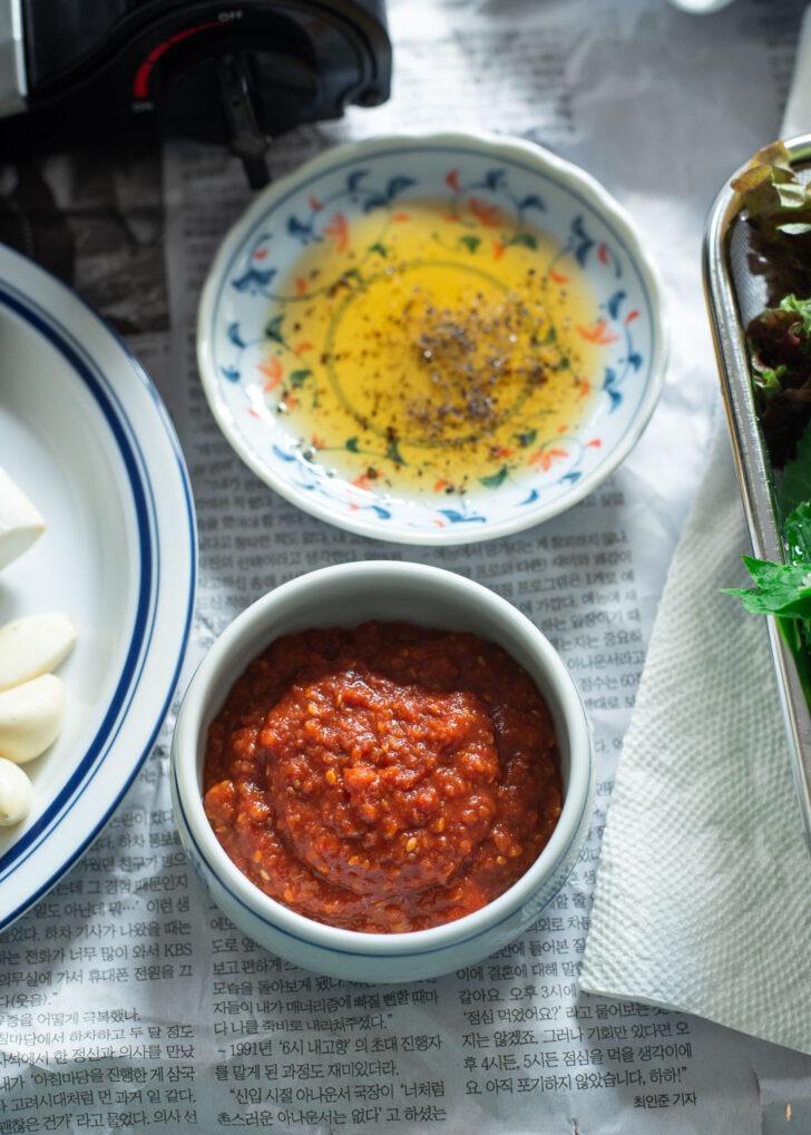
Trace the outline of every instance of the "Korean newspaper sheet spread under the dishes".
{"type": "Polygon", "coordinates": [[[776,136],[802,9],[736,0],[701,18],[666,0],[391,0],[391,100],[274,144],[277,177],[325,146],[398,129],[517,134],[584,166],[638,225],[672,329],[660,406],[592,496],[492,543],[350,536],[275,497],[220,435],[197,375],[195,308],[252,196],[239,161],[178,142],[126,163],[0,167],[0,192],[18,205],[24,178],[47,186],[61,228],[34,253],[128,338],[177,429],[200,533],[178,693],[269,588],[325,564],[408,557],[471,575],[537,623],[578,683],[599,759],[587,844],[529,931],[448,977],[354,985],[268,955],[209,903],[173,819],[170,713],[87,854],[0,934],[0,1135],[781,1129],[811,1060],[678,1011],[584,995],[577,978],[613,772],[717,409],[704,218],[776,136]]]}

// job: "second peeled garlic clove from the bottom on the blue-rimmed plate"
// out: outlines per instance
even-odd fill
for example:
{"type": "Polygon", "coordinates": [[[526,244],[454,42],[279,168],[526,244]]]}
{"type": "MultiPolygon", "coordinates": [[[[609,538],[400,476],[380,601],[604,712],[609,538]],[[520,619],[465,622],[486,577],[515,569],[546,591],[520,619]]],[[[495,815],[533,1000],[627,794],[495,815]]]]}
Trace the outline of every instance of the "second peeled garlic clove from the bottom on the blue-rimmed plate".
{"type": "Polygon", "coordinates": [[[61,729],[67,695],[56,674],[32,678],[0,693],[0,757],[24,765],[51,746],[61,729]]]}

